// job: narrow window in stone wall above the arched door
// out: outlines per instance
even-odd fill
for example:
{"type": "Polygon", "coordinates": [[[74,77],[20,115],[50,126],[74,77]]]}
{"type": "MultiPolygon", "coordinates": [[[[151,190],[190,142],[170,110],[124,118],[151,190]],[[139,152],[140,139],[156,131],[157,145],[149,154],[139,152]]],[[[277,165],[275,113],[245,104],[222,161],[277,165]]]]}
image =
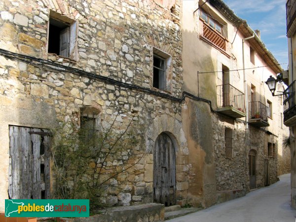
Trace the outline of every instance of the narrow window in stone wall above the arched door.
{"type": "Polygon", "coordinates": [[[153,87],[165,90],[166,76],[171,64],[171,56],[165,52],[153,48],[153,87]]]}

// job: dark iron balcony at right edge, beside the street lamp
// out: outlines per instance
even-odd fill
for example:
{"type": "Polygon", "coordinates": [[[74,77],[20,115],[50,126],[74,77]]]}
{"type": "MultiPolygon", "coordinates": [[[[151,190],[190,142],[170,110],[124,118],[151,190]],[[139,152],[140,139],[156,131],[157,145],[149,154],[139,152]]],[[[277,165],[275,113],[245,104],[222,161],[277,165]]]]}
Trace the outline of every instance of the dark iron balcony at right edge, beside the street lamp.
{"type": "Polygon", "coordinates": [[[295,86],[296,80],[284,91],[284,124],[286,126],[296,126],[295,86]]]}

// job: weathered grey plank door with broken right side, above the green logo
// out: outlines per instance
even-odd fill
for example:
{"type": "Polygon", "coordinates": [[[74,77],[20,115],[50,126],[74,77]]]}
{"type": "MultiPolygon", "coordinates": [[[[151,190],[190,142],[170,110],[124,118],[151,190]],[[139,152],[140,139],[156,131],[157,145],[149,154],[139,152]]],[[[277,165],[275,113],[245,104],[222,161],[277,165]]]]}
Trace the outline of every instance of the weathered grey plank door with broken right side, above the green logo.
{"type": "Polygon", "coordinates": [[[48,130],[9,126],[10,199],[49,198],[48,130]]]}

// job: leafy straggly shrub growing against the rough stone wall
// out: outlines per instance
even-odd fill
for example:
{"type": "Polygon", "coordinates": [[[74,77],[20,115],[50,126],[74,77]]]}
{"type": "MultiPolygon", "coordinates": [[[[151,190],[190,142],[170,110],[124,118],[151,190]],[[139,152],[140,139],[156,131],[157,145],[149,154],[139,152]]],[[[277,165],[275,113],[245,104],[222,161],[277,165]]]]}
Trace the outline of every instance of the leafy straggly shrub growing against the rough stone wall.
{"type": "Polygon", "coordinates": [[[90,213],[95,214],[106,206],[109,191],[126,183],[118,184],[117,178],[142,159],[143,133],[141,124],[134,124],[136,117],[125,125],[118,125],[117,117],[105,130],[60,122],[51,148],[53,198],[89,199],[90,213]]]}

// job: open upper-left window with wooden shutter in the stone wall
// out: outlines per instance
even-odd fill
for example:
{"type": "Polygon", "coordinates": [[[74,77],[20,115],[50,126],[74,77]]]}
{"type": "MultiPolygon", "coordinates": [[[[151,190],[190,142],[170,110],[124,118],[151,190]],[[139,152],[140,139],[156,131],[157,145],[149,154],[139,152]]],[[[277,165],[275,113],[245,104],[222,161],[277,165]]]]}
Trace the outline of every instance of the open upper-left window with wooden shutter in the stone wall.
{"type": "Polygon", "coordinates": [[[75,20],[51,11],[49,16],[48,53],[76,59],[75,20]]]}

